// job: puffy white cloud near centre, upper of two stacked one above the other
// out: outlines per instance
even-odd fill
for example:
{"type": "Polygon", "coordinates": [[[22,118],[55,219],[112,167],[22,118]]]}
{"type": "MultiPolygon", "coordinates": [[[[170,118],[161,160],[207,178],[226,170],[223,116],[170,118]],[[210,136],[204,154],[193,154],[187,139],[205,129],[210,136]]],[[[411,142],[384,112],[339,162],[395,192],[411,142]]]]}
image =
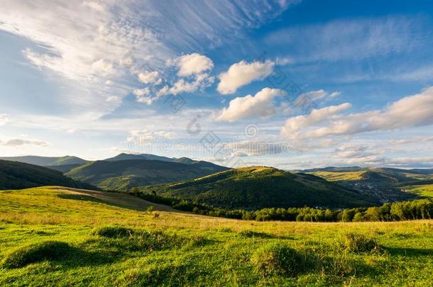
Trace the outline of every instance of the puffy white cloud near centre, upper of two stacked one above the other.
{"type": "Polygon", "coordinates": [[[221,94],[233,94],[239,87],[265,79],[273,72],[275,62],[252,62],[248,64],[246,61],[241,61],[232,64],[227,72],[219,75],[219,84],[217,90],[221,94]]]}

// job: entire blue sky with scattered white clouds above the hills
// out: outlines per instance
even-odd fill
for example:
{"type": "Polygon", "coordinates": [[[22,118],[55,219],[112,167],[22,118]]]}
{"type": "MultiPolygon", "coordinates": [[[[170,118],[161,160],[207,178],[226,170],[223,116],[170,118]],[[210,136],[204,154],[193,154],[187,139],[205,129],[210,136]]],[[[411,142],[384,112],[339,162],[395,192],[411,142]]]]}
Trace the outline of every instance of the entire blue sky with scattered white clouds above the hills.
{"type": "Polygon", "coordinates": [[[0,155],[433,167],[429,1],[13,1],[0,155]]]}

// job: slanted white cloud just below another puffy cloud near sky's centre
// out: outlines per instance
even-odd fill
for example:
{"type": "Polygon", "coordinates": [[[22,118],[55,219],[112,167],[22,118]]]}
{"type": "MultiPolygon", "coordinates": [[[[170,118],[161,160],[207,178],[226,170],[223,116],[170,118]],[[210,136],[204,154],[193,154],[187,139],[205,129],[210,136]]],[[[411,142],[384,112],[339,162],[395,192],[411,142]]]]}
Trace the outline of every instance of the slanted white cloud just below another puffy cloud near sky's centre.
{"type": "Polygon", "coordinates": [[[280,89],[264,88],[254,96],[248,95],[233,99],[229,107],[224,108],[217,119],[233,122],[239,118],[272,116],[277,113],[277,108],[273,103],[274,98],[284,94],[285,91],[280,89]]]}

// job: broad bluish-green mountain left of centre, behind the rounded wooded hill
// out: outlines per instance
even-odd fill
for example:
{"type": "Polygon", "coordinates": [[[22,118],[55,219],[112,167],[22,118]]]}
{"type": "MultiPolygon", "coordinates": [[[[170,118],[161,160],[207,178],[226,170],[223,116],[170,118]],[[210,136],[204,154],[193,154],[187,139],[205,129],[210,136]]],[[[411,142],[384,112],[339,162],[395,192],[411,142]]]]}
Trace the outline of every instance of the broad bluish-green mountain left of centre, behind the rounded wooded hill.
{"type": "Polygon", "coordinates": [[[194,179],[226,170],[210,162],[183,164],[149,159],[97,161],[67,172],[67,176],[109,190],[126,191],[134,186],[148,186],[194,179]]]}

